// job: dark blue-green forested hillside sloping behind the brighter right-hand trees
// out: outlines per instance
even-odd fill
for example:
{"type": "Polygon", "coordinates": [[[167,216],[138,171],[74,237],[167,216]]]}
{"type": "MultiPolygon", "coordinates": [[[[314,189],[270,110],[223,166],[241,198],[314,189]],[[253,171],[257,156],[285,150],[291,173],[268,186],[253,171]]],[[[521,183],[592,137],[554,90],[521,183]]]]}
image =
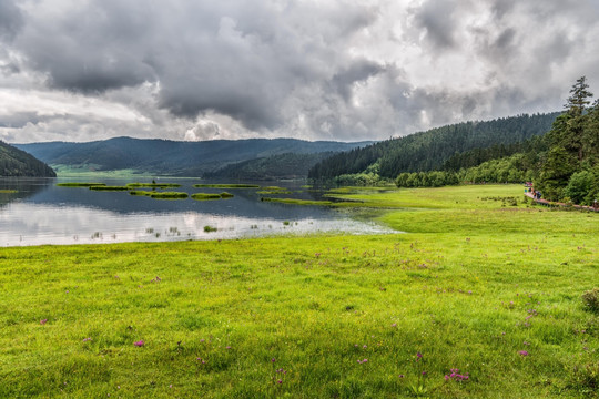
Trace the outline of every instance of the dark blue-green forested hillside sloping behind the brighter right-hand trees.
{"type": "MultiPolygon", "coordinates": [[[[558,112],[525,114],[488,122],[466,122],[437,127],[333,155],[316,164],[308,176],[326,180],[344,174],[362,173],[377,163],[378,174],[382,177],[395,178],[402,172],[464,167],[459,165],[460,156],[471,166],[469,158],[475,154],[460,155],[460,153],[496,145],[498,152],[505,151],[508,154],[517,149],[517,146],[510,147],[510,144],[525,142],[549,131],[558,115],[558,112]],[[449,164],[446,165],[447,162],[449,164]]],[[[485,160],[488,160],[494,151],[488,151],[485,160]]]]}

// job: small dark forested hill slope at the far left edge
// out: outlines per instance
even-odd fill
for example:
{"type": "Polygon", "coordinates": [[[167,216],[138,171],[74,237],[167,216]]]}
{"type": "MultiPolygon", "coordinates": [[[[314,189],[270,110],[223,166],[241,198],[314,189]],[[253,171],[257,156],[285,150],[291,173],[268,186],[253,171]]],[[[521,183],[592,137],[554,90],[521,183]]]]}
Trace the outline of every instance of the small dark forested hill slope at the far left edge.
{"type": "Polygon", "coordinates": [[[0,141],[0,176],[55,177],[57,174],[34,156],[0,141]]]}

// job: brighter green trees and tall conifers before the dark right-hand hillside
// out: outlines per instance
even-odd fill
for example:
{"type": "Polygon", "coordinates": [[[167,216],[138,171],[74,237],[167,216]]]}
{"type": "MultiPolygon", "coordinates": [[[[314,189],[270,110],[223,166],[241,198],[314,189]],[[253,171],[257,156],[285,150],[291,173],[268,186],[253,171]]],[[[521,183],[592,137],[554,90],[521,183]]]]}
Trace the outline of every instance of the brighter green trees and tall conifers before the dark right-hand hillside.
{"type": "Polygon", "coordinates": [[[430,187],[531,181],[546,200],[593,205],[599,201],[599,101],[590,105],[588,89],[586,78],[580,78],[570,91],[566,112],[542,137],[461,153],[447,160],[444,171],[404,172],[396,183],[430,187]]]}

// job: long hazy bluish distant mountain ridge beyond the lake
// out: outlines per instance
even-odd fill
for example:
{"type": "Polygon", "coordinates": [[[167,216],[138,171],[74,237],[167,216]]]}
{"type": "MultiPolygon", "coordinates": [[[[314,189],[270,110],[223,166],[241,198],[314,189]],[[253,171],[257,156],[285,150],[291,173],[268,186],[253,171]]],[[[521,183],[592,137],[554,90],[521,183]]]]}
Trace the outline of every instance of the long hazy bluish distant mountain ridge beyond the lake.
{"type": "Polygon", "coordinates": [[[87,143],[14,144],[50,165],[98,171],[135,170],[172,176],[202,176],[238,162],[286,153],[315,154],[349,151],[373,142],[308,142],[296,139],[213,140],[177,142],[115,137],[87,143]]]}

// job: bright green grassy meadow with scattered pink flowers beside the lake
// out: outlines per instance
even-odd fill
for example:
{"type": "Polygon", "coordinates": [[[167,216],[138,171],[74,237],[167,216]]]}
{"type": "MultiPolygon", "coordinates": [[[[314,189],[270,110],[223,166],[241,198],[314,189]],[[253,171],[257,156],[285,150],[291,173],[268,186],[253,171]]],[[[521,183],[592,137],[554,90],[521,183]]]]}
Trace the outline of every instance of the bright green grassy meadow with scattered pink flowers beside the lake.
{"type": "Polygon", "coordinates": [[[0,398],[598,397],[599,214],[332,195],[405,233],[1,248],[0,398]]]}

